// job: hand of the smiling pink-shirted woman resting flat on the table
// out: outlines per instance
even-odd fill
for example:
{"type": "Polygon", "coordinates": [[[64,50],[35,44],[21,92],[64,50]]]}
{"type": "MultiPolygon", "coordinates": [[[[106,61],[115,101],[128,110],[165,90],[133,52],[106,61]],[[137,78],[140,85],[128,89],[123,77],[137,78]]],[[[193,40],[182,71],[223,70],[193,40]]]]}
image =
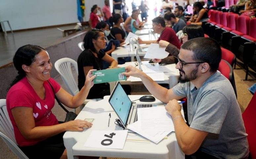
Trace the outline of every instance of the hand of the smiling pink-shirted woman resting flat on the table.
{"type": "Polygon", "coordinates": [[[83,131],[85,128],[90,128],[92,123],[86,122],[84,120],[73,120],[66,124],[66,131],[83,131]]]}

